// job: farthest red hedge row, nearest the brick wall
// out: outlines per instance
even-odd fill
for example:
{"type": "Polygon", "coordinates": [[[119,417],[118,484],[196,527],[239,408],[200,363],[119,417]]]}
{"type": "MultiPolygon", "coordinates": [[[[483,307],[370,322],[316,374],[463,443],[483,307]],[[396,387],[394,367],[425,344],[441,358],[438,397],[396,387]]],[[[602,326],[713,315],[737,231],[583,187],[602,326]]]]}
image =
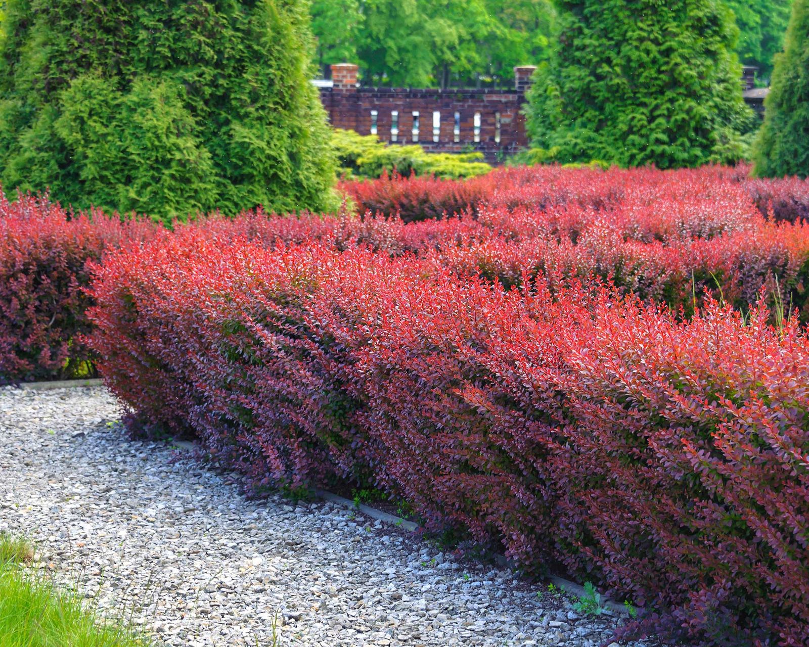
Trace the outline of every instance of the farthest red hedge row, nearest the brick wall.
{"type": "Polygon", "coordinates": [[[676,171],[654,168],[608,171],[595,167],[567,168],[558,165],[500,167],[468,180],[442,180],[393,173],[378,180],[352,180],[340,189],[358,205],[358,213],[370,211],[385,217],[400,216],[405,222],[441,218],[467,210],[548,209],[580,205],[606,209],[621,205],[639,193],[664,206],[673,196],[713,192],[735,193],[735,206],[755,206],[764,216],[795,222],[809,214],[809,180],[757,180],[748,177],[749,167],[701,167],[676,171]]]}

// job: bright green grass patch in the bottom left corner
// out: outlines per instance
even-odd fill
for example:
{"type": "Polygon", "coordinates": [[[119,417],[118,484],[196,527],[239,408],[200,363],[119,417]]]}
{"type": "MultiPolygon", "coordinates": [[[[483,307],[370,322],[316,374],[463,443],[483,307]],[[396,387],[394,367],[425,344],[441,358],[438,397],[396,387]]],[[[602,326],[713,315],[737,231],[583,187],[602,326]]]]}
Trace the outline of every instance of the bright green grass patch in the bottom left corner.
{"type": "Polygon", "coordinates": [[[125,624],[102,622],[74,595],[29,573],[31,543],[0,533],[0,647],[147,647],[125,624]]]}

